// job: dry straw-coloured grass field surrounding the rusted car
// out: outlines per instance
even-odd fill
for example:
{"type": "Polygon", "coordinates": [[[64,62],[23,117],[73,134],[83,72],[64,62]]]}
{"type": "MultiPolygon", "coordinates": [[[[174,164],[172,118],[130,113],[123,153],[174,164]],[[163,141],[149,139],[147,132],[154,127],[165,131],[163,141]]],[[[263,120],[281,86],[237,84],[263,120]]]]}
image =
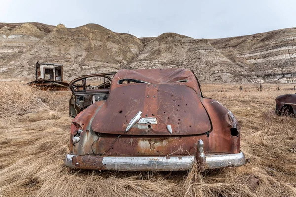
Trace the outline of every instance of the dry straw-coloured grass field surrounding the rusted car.
{"type": "Polygon", "coordinates": [[[294,85],[202,84],[241,125],[241,149],[251,162],[199,173],[71,170],[70,92],[44,92],[18,81],[0,82],[0,197],[295,197],[296,119],[274,114],[275,97],[294,85]],[[276,87],[281,90],[277,91],[276,87]],[[249,177],[259,179],[254,189],[249,177]]]}

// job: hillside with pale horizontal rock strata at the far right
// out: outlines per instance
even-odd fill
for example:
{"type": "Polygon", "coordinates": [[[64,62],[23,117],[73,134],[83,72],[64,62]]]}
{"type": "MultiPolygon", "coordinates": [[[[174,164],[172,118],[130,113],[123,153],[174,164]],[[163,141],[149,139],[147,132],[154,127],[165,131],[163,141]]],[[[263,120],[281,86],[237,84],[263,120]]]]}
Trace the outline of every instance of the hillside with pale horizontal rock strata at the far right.
{"type": "Polygon", "coordinates": [[[296,83],[296,28],[209,42],[265,82],[296,83]]]}

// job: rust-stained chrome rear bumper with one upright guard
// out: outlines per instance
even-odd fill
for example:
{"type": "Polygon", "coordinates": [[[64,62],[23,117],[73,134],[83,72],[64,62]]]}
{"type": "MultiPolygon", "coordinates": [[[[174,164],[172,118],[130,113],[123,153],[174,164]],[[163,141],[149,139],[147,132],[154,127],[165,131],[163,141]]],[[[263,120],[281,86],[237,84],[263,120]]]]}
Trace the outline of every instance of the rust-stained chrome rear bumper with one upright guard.
{"type": "Polygon", "coordinates": [[[196,144],[194,156],[94,156],[67,154],[64,163],[78,169],[98,169],[116,171],[185,171],[195,161],[206,169],[238,167],[245,164],[243,152],[236,154],[204,155],[203,143],[196,144]],[[197,147],[198,146],[198,147],[197,147]]]}

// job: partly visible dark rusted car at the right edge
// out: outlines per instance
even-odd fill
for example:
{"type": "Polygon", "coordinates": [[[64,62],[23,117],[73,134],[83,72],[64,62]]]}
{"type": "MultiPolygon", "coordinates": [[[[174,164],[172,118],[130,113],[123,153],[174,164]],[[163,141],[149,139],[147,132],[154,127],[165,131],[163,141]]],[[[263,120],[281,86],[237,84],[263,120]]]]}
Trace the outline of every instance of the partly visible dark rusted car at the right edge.
{"type": "Polygon", "coordinates": [[[278,115],[296,115],[296,94],[280,95],[275,98],[275,113],[278,115]]]}

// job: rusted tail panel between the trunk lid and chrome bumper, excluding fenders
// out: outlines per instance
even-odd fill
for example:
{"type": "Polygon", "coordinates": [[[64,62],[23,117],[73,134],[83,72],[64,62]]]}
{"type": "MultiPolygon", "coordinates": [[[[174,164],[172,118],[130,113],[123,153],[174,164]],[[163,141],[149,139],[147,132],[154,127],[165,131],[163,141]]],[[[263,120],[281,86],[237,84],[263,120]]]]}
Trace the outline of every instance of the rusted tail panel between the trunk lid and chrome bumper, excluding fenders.
{"type": "MultiPolygon", "coordinates": [[[[106,151],[117,136],[101,136],[93,144],[96,154],[106,151]]],[[[201,136],[126,136],[122,135],[105,155],[182,155],[194,154],[194,144],[202,139],[205,150],[209,152],[209,138],[201,136]],[[124,147],[124,148],[122,148],[124,147]]],[[[89,150],[89,149],[88,149],[89,150]]],[[[90,153],[91,154],[91,153],[90,153]]]]}

